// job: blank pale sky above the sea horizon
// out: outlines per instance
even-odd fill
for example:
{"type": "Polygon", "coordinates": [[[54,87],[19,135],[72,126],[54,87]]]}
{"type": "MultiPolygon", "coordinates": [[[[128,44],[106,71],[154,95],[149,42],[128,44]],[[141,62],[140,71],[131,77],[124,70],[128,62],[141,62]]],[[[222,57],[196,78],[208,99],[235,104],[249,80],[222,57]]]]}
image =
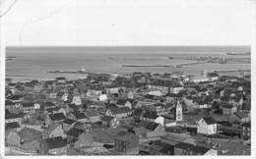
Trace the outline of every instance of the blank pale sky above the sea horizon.
{"type": "MultiPolygon", "coordinates": [[[[6,9],[13,0],[5,0],[6,9]]],[[[6,45],[251,45],[251,0],[17,0],[6,45]]]]}

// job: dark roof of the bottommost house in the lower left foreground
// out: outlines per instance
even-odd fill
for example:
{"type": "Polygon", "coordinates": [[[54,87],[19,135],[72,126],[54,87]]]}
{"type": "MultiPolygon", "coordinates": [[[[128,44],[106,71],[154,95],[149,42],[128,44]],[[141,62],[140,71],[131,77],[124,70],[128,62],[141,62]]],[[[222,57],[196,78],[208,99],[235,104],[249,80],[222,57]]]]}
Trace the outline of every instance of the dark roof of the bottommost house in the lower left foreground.
{"type": "Polygon", "coordinates": [[[43,139],[43,143],[49,149],[65,147],[67,145],[65,139],[63,139],[61,136],[57,136],[54,138],[45,138],[43,139]]]}

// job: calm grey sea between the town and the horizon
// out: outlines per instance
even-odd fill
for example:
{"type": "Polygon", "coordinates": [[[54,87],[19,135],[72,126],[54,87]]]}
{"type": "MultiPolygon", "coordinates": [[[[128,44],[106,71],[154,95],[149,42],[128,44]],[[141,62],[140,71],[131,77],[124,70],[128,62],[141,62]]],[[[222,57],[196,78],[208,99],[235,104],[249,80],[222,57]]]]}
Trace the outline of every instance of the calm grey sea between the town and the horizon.
{"type": "Polygon", "coordinates": [[[9,46],[6,78],[14,81],[45,80],[65,77],[84,79],[85,75],[50,74],[48,71],[80,71],[129,75],[133,72],[176,73],[199,76],[202,71],[250,70],[250,63],[204,63],[176,67],[123,67],[123,65],[178,65],[191,63],[187,57],[250,58],[248,55],[226,55],[250,52],[249,46],[9,46]],[[173,59],[169,59],[173,57],[173,59]]]}

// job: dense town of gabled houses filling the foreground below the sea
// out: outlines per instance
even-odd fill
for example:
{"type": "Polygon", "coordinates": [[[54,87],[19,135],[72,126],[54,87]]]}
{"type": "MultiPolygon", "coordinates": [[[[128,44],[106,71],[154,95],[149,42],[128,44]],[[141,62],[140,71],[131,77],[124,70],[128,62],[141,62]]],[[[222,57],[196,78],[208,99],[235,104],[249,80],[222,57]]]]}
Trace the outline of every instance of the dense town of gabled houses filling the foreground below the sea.
{"type": "Polygon", "coordinates": [[[6,79],[6,155],[250,155],[250,75],[6,79]]]}

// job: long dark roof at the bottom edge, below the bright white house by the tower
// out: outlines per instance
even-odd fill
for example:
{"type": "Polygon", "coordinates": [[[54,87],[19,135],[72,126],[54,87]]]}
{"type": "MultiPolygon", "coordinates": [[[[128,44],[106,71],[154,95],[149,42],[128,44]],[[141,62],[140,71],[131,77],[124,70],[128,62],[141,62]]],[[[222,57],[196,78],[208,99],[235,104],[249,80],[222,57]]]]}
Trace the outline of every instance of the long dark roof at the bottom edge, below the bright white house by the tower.
{"type": "Polygon", "coordinates": [[[190,151],[199,153],[199,154],[205,154],[207,151],[210,149],[207,147],[199,146],[199,145],[194,145],[190,143],[185,143],[185,142],[179,142],[175,145],[176,148],[181,148],[181,149],[189,149],[190,151]]]}

